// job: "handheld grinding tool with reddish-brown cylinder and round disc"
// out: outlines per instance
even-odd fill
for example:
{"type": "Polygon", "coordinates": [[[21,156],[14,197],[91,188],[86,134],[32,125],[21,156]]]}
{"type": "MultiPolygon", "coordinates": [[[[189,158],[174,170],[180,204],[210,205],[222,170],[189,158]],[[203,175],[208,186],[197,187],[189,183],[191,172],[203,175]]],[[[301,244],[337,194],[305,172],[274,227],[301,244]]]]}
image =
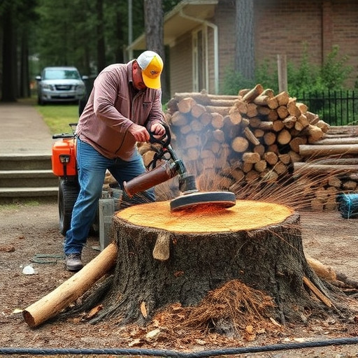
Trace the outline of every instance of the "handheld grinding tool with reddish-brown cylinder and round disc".
{"type": "Polygon", "coordinates": [[[178,158],[171,146],[171,132],[168,124],[164,124],[164,136],[150,133],[150,143],[159,143],[160,149],[155,153],[148,171],[128,182],[123,183],[124,192],[129,197],[155,187],[178,176],[181,195],[170,201],[171,211],[186,210],[198,206],[210,206],[215,209],[230,208],[236,204],[236,196],[232,192],[200,192],[196,187],[195,176],[187,173],[182,159],[178,158]]]}

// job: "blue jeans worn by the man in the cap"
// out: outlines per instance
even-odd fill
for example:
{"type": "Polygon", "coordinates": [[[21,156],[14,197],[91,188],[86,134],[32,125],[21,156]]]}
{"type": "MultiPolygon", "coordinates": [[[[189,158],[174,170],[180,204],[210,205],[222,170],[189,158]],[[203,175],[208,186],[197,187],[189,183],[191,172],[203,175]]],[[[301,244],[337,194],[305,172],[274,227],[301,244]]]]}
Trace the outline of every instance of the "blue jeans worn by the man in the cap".
{"type": "MultiPolygon", "coordinates": [[[[145,172],[143,159],[138,151],[128,162],[119,158],[108,159],[97,152],[92,145],[80,141],[80,139],[77,141],[77,166],[80,193],[73,206],[71,228],[66,232],[65,255],[82,252],[96,217],[106,170],[110,171],[121,189],[123,189],[124,181],[129,181],[145,172]]],[[[124,207],[155,201],[155,192],[153,188],[148,189],[132,198],[124,194],[123,201],[124,207]]]]}

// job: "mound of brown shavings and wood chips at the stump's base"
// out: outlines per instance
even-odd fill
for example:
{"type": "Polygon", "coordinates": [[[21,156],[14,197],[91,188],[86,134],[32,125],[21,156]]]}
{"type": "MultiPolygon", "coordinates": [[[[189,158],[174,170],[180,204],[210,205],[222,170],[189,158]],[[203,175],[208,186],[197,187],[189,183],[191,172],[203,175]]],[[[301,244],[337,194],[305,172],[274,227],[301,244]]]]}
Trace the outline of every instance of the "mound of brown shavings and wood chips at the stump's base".
{"type": "Polygon", "coordinates": [[[212,335],[217,339],[219,334],[224,340],[241,337],[254,341],[257,334],[280,329],[280,324],[270,317],[274,307],[264,292],[230,280],[209,292],[197,306],[182,307],[176,303],[157,313],[152,322],[176,334],[185,330],[186,335],[192,331],[194,336],[201,333],[206,339],[212,335]]]}

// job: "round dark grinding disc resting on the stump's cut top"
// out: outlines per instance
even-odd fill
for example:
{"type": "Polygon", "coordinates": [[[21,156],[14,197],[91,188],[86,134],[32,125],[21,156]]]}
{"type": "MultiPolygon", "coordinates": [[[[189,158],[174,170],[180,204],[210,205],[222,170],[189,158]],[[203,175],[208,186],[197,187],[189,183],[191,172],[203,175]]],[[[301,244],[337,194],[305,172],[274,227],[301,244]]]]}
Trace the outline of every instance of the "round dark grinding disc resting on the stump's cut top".
{"type": "Polygon", "coordinates": [[[232,192],[194,192],[178,196],[170,202],[171,211],[196,209],[199,206],[222,209],[235,204],[236,196],[232,192]]]}

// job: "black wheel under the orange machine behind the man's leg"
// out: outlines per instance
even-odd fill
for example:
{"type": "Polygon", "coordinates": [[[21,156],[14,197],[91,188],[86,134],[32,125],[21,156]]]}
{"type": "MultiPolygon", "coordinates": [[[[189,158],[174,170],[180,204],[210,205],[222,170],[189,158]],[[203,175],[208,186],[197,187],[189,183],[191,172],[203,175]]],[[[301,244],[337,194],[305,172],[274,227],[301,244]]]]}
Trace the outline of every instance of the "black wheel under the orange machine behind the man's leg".
{"type": "Polygon", "coordinates": [[[59,179],[59,231],[63,236],[71,225],[73,206],[75,205],[80,187],[77,180],[59,179]]]}

